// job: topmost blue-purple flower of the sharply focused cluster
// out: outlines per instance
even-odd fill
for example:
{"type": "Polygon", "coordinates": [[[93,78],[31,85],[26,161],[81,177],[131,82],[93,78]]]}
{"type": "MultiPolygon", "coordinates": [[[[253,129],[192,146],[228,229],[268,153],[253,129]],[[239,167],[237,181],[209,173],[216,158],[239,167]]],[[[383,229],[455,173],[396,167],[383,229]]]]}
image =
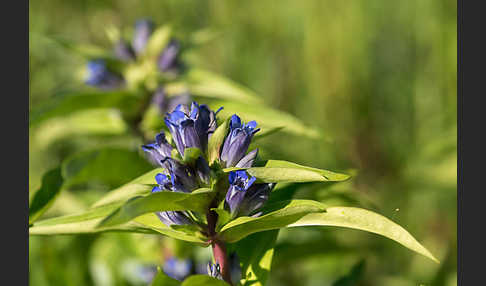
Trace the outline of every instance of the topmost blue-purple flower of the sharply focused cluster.
{"type": "Polygon", "coordinates": [[[184,150],[196,147],[205,150],[209,136],[216,129],[216,113],[207,105],[193,102],[191,110],[185,105],[178,105],[176,109],[165,117],[165,125],[172,134],[179,153],[184,156],[184,150]]]}

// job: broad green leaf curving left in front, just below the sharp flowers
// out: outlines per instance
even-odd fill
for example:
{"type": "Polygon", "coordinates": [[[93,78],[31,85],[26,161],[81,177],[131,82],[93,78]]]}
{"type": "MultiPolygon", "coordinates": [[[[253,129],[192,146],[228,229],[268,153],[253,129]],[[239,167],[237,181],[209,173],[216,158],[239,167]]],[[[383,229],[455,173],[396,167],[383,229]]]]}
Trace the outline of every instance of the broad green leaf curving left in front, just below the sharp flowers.
{"type": "Polygon", "coordinates": [[[100,227],[122,224],[156,211],[193,210],[204,213],[213,195],[211,189],[198,189],[192,193],[156,192],[145,197],[132,198],[103,220],[100,227]]]}

